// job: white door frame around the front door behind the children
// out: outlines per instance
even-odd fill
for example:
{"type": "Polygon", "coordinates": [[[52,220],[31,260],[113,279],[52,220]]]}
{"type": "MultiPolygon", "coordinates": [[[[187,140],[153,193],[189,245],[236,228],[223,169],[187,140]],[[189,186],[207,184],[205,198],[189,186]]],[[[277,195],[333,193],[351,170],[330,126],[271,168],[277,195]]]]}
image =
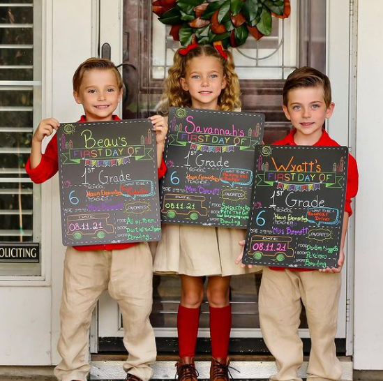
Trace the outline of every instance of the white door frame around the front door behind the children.
{"type": "MultiPolygon", "coordinates": [[[[341,145],[350,147],[354,152],[355,144],[350,137],[354,136],[354,107],[350,103],[352,88],[350,87],[350,36],[352,36],[350,9],[353,0],[326,0],[326,55],[327,74],[331,79],[333,100],[336,110],[327,124],[333,139],[341,145]],[[352,107],[350,107],[350,104],[352,107]]],[[[100,47],[109,43],[111,59],[119,64],[122,61],[122,0],[100,1],[100,47]]],[[[352,13],[352,12],[351,12],[352,13]]],[[[354,219],[350,219],[349,232],[346,242],[347,255],[353,257],[354,253],[354,219]]],[[[353,306],[354,262],[346,261],[342,274],[343,288],[340,295],[340,308],[338,312],[338,331],[336,337],[346,338],[346,354],[352,354],[353,327],[350,321],[350,309],[353,306]],[[345,271],[347,270],[347,271],[345,271]],[[350,308],[350,309],[349,309],[350,308]]],[[[352,320],[352,319],[351,319],[352,320]]],[[[302,338],[309,337],[308,329],[300,329],[302,338]]],[[[156,336],[177,336],[177,329],[158,329],[156,336]]],[[[98,336],[122,337],[121,319],[117,302],[108,294],[103,294],[98,308],[98,336]]],[[[209,336],[208,330],[201,330],[199,336],[209,336]]],[[[262,337],[260,329],[232,330],[232,337],[262,337]]],[[[91,348],[97,348],[97,336],[91,335],[91,348]]]]}

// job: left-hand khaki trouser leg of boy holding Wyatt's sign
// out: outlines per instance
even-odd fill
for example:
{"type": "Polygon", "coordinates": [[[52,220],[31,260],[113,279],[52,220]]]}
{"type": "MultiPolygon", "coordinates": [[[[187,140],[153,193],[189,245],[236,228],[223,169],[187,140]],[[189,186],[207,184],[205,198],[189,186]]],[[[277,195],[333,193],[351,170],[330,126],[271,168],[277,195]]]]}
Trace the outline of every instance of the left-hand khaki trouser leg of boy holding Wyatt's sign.
{"type": "Polygon", "coordinates": [[[303,363],[299,338],[301,293],[295,271],[273,271],[264,267],[259,297],[260,325],[264,341],[276,358],[274,381],[301,381],[298,368],[303,363]]]}

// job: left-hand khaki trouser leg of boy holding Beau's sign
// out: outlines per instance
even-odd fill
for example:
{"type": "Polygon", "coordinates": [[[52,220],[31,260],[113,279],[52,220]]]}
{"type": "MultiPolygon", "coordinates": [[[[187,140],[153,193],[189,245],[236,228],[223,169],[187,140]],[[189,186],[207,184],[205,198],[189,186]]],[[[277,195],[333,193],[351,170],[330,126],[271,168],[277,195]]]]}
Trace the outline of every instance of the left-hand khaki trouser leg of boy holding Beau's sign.
{"type": "Polygon", "coordinates": [[[66,249],[57,345],[62,360],[54,368],[60,381],[87,380],[91,315],[98,297],[107,289],[109,262],[110,252],[66,249]]]}

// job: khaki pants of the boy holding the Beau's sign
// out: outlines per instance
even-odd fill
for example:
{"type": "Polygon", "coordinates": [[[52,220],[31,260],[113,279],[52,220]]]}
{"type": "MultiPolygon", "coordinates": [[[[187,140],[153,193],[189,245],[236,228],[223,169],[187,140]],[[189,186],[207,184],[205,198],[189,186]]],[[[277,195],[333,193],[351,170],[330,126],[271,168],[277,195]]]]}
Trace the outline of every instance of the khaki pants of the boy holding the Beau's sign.
{"type": "Polygon", "coordinates": [[[156,361],[156,343],[149,322],[152,263],[147,243],[116,251],[67,248],[57,346],[62,361],[54,369],[58,380],[87,380],[91,315],[105,290],[118,302],[123,318],[123,344],[129,353],[123,369],[144,381],[151,378],[149,364],[156,361]]]}

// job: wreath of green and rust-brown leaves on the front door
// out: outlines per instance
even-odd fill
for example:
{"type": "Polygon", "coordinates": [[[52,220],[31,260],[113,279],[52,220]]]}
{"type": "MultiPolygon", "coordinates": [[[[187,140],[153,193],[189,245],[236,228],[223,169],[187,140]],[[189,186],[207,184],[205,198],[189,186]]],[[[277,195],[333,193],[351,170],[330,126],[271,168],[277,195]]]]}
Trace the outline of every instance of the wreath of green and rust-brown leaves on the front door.
{"type": "Polygon", "coordinates": [[[290,0],[156,0],[151,5],[183,46],[220,41],[225,49],[237,47],[249,33],[257,40],[269,36],[272,16],[290,16],[290,0]]]}

